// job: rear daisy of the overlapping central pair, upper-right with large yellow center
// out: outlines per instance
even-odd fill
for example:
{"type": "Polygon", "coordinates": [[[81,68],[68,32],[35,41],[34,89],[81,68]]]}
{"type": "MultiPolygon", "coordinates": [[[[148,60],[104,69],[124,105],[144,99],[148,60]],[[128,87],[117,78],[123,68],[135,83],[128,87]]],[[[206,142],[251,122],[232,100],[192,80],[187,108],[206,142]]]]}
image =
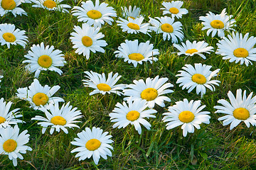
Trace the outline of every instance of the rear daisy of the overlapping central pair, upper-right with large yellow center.
{"type": "Polygon", "coordinates": [[[131,99],[135,101],[136,99],[146,100],[146,104],[149,108],[154,108],[155,103],[161,107],[164,107],[164,101],[171,101],[169,97],[162,96],[163,94],[170,94],[174,91],[168,89],[174,85],[166,83],[168,78],[160,78],[156,76],[154,79],[150,77],[146,78],[146,83],[140,79],[139,81],[134,80],[134,84],[127,85],[124,89],[124,96],[129,96],[124,98],[125,101],[131,99]]]}

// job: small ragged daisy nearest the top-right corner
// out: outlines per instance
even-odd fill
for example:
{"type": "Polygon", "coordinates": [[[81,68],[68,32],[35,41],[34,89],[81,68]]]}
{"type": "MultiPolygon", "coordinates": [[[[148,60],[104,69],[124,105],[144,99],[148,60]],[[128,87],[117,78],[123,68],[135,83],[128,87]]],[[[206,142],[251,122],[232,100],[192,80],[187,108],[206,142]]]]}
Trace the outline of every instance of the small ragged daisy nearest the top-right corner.
{"type": "Polygon", "coordinates": [[[209,11],[206,13],[206,16],[200,16],[199,20],[203,21],[202,30],[207,30],[207,36],[212,32],[212,37],[218,32],[218,37],[222,38],[225,36],[225,30],[234,30],[233,26],[235,26],[235,20],[231,19],[233,16],[227,16],[225,12],[225,8],[220,14],[214,14],[209,11]]]}

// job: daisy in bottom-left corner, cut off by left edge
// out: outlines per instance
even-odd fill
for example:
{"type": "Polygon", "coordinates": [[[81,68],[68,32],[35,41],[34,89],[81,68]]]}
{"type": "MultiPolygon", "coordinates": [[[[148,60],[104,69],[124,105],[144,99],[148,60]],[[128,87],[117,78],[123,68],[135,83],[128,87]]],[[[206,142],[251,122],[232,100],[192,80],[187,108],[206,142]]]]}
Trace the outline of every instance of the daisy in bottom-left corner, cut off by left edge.
{"type": "Polygon", "coordinates": [[[13,161],[14,166],[17,166],[17,158],[23,159],[21,154],[26,154],[26,151],[31,151],[31,147],[25,144],[29,141],[28,130],[19,133],[18,125],[14,128],[11,126],[0,129],[0,153],[7,154],[9,159],[13,161]]]}

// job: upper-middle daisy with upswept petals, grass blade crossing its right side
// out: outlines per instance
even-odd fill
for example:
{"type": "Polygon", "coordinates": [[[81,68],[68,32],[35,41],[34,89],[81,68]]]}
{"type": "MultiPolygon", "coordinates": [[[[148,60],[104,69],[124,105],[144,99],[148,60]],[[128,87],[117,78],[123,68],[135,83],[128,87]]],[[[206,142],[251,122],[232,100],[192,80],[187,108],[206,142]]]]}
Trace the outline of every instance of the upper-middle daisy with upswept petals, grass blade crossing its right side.
{"type": "Polygon", "coordinates": [[[149,44],[149,40],[139,44],[138,40],[125,40],[114,53],[117,54],[115,57],[124,58],[124,62],[128,61],[129,64],[132,63],[134,67],[137,67],[137,64],[142,64],[142,62],[149,61],[152,64],[153,61],[158,60],[153,56],[159,55],[159,50],[153,50],[153,47],[153,44],[149,44]]]}

